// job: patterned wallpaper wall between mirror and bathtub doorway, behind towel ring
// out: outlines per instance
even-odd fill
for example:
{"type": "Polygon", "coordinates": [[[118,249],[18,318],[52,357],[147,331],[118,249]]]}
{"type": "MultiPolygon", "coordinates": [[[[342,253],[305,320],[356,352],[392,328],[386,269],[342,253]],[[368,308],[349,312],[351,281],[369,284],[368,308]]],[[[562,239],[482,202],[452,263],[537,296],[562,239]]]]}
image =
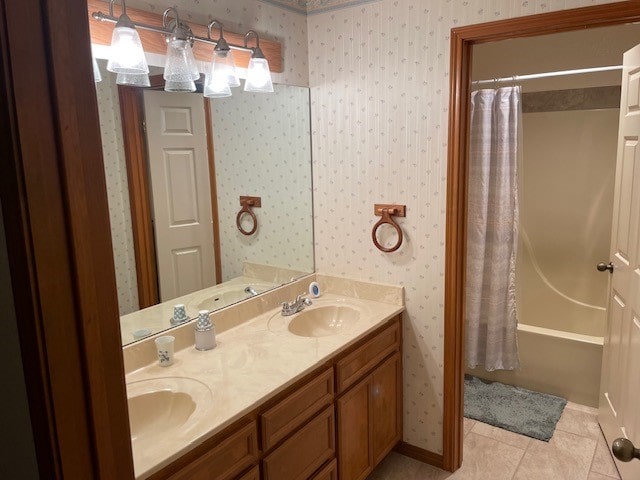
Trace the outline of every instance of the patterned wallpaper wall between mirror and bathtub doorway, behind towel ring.
{"type": "Polygon", "coordinates": [[[449,36],[589,0],[382,0],[308,17],[318,272],[404,285],[404,440],[442,452],[449,36]],[[370,239],[403,203],[405,243],[370,239]]]}

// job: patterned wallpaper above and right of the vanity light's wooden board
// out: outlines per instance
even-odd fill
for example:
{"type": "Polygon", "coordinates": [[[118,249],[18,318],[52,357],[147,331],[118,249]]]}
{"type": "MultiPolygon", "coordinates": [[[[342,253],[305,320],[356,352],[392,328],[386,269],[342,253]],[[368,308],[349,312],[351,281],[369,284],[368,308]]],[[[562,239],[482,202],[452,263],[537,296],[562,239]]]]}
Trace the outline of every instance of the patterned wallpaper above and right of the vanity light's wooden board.
{"type": "MultiPolygon", "coordinates": [[[[174,3],[165,0],[130,0],[127,6],[162,14],[174,3]]],[[[307,64],[307,19],[304,15],[257,0],[182,0],[180,18],[207,24],[216,19],[230,31],[253,29],[261,38],[282,42],[284,72],[273,81],[286,85],[309,86],[307,64]]]]}

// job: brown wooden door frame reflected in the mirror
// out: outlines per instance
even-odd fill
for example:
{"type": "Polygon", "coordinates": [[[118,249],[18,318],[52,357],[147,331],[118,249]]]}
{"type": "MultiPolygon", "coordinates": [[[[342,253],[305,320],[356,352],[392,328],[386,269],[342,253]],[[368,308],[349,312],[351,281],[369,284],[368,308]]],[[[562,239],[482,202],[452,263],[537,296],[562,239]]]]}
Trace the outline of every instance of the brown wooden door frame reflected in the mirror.
{"type": "MultiPolygon", "coordinates": [[[[151,90],[162,90],[162,75],[149,77],[151,90]]],[[[140,308],[160,302],[158,269],[151,208],[151,186],[149,183],[149,155],[145,130],[144,90],[140,87],[118,85],[122,139],[124,143],[133,250],[136,260],[138,303],[140,308]]],[[[205,130],[207,132],[207,157],[209,163],[209,186],[211,192],[211,219],[213,228],[213,255],[216,284],[222,282],[222,259],[220,257],[220,221],[218,216],[218,187],[216,183],[215,153],[213,149],[213,119],[211,100],[204,98],[205,130]]]]}

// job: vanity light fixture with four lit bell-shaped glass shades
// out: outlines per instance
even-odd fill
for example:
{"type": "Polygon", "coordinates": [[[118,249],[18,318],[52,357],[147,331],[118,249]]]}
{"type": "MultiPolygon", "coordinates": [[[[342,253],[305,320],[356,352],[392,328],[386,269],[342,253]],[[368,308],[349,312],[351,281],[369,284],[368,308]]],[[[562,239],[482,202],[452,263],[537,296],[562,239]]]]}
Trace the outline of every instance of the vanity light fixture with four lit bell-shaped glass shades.
{"type": "Polygon", "coordinates": [[[160,33],[167,38],[167,59],[163,77],[165,90],[168,92],[194,92],[196,90],[195,80],[200,77],[200,72],[193,55],[192,47],[195,42],[215,45],[213,59],[206,75],[204,87],[206,97],[227,97],[231,95],[232,87],[240,86],[232,50],[251,52],[244,90],[247,92],[273,92],[269,63],[260,49],[260,38],[255,31],[249,30],[246,33],[243,46],[234,45],[225,40],[222,24],[216,20],[209,23],[206,38],[198,37],[193,34],[186,23],[180,21],[175,7],[165,10],[162,16],[163,25],[159,27],[132,21],[126,14],[125,0],[121,0],[121,2],[122,14],[118,18],[113,14],[115,0],[109,0],[108,15],[102,12],[93,12],[92,14],[92,17],[98,21],[116,24],[111,43],[111,58],[107,69],[111,72],[127,74],[118,77],[118,84],[135,86],[148,86],[149,84],[149,67],[144,58],[142,43],[136,31],[137,27],[160,33]],[[211,38],[212,28],[220,30],[220,37],[217,40],[211,38]],[[255,47],[247,46],[251,37],[256,39],[255,47]],[[145,75],[146,78],[141,75],[145,75]]]}

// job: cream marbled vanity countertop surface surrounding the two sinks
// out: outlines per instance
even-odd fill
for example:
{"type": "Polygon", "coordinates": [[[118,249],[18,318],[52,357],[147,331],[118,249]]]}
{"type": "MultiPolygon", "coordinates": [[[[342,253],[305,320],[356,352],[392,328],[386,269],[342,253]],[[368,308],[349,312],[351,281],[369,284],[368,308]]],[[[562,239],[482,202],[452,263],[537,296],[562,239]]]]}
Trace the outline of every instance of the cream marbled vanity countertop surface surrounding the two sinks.
{"type": "Polygon", "coordinates": [[[134,439],[136,478],[146,478],[170,464],[404,310],[397,303],[331,293],[306,309],[326,305],[354,307],[359,318],[336,335],[300,337],[287,329],[295,316],[282,317],[280,308],[274,308],[219,334],[213,350],[185,348],[176,352],[170,367],[153,363],[127,374],[129,396],[145,386],[162,388],[163,382],[176,378],[210,391],[204,397],[210,402],[200,402],[207,405],[199,404],[187,428],[154,437],[153,442],[134,439]]]}

